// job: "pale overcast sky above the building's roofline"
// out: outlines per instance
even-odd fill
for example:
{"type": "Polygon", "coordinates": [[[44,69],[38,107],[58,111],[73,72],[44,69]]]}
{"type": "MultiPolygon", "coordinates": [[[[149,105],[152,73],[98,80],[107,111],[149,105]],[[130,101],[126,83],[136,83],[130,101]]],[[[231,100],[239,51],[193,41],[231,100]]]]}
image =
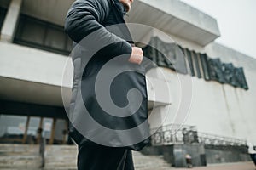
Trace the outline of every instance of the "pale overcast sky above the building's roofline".
{"type": "Polygon", "coordinates": [[[182,0],[217,19],[216,42],[256,58],[256,0],[182,0]]]}

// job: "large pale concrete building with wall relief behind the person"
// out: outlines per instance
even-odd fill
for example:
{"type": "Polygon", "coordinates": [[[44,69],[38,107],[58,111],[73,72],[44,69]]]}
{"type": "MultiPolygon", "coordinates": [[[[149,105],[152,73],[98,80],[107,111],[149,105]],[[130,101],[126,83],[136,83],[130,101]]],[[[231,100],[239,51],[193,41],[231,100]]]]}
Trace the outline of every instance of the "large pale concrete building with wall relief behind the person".
{"type": "MultiPolygon", "coordinates": [[[[63,25],[72,3],[1,1],[1,142],[36,143],[37,129],[43,128],[49,144],[67,143],[61,86],[72,41],[63,25]]],[[[256,144],[256,59],[214,42],[221,34],[217,20],[179,0],[137,0],[125,20],[154,27],[144,34],[131,31],[132,36],[170,52],[164,54],[170,55],[168,63],[161,54],[142,46],[159,65],[147,73],[152,128],[159,122],[164,127],[186,124],[201,134],[256,144]]],[[[69,89],[71,85],[63,84],[69,89]]]]}

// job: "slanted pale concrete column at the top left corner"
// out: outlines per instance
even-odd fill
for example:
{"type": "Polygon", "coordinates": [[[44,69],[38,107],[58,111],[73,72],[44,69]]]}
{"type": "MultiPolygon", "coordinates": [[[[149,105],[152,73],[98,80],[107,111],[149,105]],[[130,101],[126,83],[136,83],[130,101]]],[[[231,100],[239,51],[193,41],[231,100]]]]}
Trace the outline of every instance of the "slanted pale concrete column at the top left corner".
{"type": "Polygon", "coordinates": [[[18,23],[22,0],[11,0],[8,12],[3,21],[1,31],[2,42],[13,42],[15,37],[15,29],[18,23]]]}

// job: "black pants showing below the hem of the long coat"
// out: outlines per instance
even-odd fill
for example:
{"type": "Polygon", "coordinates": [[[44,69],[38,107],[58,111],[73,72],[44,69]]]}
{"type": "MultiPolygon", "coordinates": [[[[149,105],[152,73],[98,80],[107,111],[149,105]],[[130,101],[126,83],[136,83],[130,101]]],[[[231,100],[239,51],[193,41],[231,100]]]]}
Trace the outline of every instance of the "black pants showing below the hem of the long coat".
{"type": "Polygon", "coordinates": [[[79,145],[78,170],[134,170],[131,150],[79,145]]]}

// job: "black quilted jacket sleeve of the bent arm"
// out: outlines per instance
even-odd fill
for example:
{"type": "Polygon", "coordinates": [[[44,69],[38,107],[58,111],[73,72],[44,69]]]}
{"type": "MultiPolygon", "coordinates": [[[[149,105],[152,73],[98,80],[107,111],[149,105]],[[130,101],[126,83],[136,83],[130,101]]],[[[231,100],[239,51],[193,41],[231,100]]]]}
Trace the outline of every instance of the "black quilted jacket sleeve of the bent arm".
{"type": "Polygon", "coordinates": [[[67,12],[65,31],[77,43],[96,31],[93,37],[94,42],[116,44],[115,49],[122,51],[122,54],[131,54],[130,43],[101,25],[108,16],[109,10],[108,0],[77,0],[67,12]]]}

